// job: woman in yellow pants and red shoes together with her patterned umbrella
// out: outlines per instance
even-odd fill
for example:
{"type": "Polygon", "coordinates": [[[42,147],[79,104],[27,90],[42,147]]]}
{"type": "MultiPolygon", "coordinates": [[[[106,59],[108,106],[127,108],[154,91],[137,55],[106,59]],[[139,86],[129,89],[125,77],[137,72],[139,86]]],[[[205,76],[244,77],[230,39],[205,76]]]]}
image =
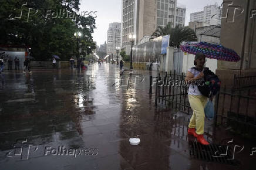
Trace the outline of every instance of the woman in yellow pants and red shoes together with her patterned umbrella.
{"type": "MultiPolygon", "coordinates": [[[[202,95],[198,90],[198,86],[191,83],[191,81],[199,80],[203,77],[208,79],[207,74],[203,74],[206,57],[227,62],[238,62],[241,58],[233,49],[207,42],[184,42],[181,44],[180,49],[183,50],[183,52],[196,55],[194,60],[196,67],[188,69],[186,77],[186,81],[188,81],[188,83],[190,82],[188,100],[193,110],[187,133],[197,137],[197,141],[201,144],[208,145],[209,143],[204,139],[204,106],[206,106],[207,97],[202,95]]],[[[217,93],[216,91],[220,89],[220,82],[217,83],[217,81],[211,80],[210,85],[213,87],[213,89],[210,90],[214,95],[217,93]]],[[[210,100],[212,100],[212,98],[210,98],[210,100]]]]}

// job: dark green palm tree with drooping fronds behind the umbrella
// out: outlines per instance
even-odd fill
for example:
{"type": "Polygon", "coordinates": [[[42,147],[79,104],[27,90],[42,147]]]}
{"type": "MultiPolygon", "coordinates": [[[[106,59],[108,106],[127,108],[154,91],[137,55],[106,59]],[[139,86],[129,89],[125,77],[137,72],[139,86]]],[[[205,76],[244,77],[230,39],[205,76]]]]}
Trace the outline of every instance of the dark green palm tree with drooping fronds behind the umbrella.
{"type": "Polygon", "coordinates": [[[177,25],[175,28],[171,27],[168,23],[166,27],[159,26],[152,36],[170,35],[170,46],[180,47],[180,43],[183,41],[197,41],[196,33],[188,28],[177,25]]]}

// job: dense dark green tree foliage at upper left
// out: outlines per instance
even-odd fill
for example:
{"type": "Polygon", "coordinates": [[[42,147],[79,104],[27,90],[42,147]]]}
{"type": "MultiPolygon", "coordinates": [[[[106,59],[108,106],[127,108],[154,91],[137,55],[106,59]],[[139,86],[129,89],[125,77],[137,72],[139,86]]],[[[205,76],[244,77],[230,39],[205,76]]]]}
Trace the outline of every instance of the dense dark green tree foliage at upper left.
{"type": "Polygon", "coordinates": [[[67,60],[77,51],[74,33],[81,32],[80,48],[92,45],[91,50],[95,49],[92,42],[95,18],[71,17],[79,10],[79,0],[0,1],[0,44],[29,46],[36,60],[48,60],[52,55],[67,60]],[[21,12],[21,18],[15,18],[21,12]]]}

